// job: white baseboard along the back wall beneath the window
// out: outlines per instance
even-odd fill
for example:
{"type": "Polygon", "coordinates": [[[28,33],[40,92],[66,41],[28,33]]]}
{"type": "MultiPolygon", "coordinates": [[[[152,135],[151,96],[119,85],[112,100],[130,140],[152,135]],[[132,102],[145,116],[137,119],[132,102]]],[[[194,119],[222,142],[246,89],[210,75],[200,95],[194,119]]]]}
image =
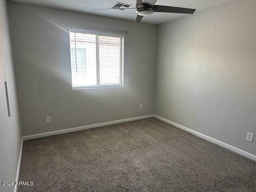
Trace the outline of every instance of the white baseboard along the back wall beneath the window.
{"type": "Polygon", "coordinates": [[[95,127],[102,127],[102,126],[106,126],[106,125],[112,125],[112,124],[117,124],[117,123],[122,123],[122,122],[139,120],[139,119],[146,119],[146,118],[150,118],[150,117],[153,117],[153,116],[154,115],[132,117],[132,118],[128,118],[128,119],[121,119],[121,120],[109,121],[109,122],[104,122],[104,123],[97,123],[97,124],[86,125],[86,126],[82,126],[82,127],[62,129],[62,130],[58,130],[58,131],[40,133],[40,134],[35,134],[35,135],[28,135],[28,136],[24,136],[23,140],[29,140],[29,139],[39,138],[39,137],[46,137],[46,136],[57,135],[57,134],[68,133],[68,132],[74,132],[74,131],[80,131],[80,130],[95,128],[95,127]]]}

